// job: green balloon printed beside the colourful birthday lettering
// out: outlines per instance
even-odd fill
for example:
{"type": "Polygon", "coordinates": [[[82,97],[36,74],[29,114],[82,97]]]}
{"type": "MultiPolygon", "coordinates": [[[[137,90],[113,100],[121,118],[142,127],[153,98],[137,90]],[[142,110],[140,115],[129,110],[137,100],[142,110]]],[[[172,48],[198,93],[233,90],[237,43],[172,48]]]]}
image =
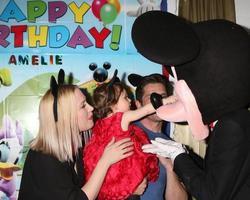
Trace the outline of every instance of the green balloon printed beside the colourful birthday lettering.
{"type": "Polygon", "coordinates": [[[115,6],[109,3],[103,5],[101,8],[100,16],[104,25],[110,24],[111,22],[115,20],[117,16],[117,11],[116,11],[115,6]]]}

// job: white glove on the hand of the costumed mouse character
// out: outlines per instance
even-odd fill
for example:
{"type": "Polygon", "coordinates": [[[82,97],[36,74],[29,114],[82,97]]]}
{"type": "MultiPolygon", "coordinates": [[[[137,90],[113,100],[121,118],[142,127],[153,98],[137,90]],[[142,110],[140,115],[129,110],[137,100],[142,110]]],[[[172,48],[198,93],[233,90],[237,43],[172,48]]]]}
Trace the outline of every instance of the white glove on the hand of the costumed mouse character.
{"type": "Polygon", "coordinates": [[[152,144],[142,146],[143,152],[170,158],[172,163],[174,163],[176,156],[187,152],[182,144],[172,140],[155,138],[155,140],[151,140],[151,142],[152,144]]]}

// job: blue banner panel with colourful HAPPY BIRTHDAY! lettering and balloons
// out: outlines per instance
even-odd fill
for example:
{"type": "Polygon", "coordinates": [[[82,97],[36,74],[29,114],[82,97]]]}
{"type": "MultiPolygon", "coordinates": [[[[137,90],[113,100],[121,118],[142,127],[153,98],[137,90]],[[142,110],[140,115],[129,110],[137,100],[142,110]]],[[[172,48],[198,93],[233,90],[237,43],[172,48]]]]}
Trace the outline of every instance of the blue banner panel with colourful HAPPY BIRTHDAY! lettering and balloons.
{"type": "Polygon", "coordinates": [[[108,50],[117,51],[122,34],[119,23],[124,21],[120,11],[119,0],[10,0],[0,14],[0,53],[27,48],[103,49],[104,43],[108,50]],[[115,20],[118,24],[113,24],[115,20]]]}

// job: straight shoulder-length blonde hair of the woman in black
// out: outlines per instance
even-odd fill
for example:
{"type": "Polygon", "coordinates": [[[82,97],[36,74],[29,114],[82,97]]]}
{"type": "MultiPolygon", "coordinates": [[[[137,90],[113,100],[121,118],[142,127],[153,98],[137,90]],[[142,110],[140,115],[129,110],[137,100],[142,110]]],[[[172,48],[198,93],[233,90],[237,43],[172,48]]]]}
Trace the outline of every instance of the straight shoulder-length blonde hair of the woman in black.
{"type": "Polygon", "coordinates": [[[76,89],[73,85],[58,88],[57,122],[54,119],[54,97],[51,90],[42,97],[39,106],[39,131],[31,142],[33,150],[53,155],[62,162],[73,161],[82,145],[77,119],[76,89]]]}

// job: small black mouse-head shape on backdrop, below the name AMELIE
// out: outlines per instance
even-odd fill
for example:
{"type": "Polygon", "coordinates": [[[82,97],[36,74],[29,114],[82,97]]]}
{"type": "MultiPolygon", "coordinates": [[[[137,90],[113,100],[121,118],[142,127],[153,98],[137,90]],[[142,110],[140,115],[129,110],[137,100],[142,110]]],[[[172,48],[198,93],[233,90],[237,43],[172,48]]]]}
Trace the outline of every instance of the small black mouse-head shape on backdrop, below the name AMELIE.
{"type": "Polygon", "coordinates": [[[104,82],[108,78],[108,70],[110,69],[111,64],[109,62],[103,63],[103,68],[97,67],[96,63],[90,63],[89,69],[94,71],[93,78],[96,82],[104,82]]]}

